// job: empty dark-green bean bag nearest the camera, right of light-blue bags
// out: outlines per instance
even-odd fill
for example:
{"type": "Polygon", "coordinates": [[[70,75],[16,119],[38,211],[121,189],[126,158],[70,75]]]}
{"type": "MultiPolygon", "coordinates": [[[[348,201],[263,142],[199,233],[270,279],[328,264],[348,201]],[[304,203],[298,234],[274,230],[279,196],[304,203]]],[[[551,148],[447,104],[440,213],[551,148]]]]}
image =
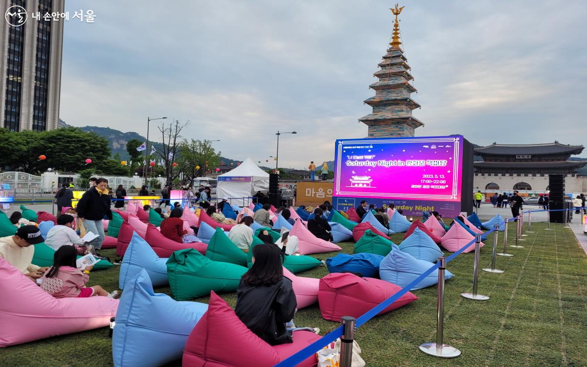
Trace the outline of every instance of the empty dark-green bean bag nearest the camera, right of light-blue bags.
{"type": "Polygon", "coordinates": [[[212,261],[195,248],[175,251],[167,260],[167,277],[177,300],[210,295],[210,291],[234,292],[247,268],[212,261]]]}

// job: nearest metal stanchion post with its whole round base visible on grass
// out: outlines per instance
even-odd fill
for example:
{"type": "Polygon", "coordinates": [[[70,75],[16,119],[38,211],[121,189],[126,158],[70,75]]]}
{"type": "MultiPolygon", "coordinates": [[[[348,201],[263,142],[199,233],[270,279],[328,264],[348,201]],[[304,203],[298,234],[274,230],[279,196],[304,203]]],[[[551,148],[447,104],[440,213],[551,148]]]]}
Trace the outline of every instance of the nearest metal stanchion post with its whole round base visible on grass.
{"type": "Polygon", "coordinates": [[[453,346],[444,344],[444,270],[446,270],[446,258],[439,257],[438,264],[438,291],[436,300],[436,343],[424,343],[420,345],[420,351],[440,358],[454,358],[461,355],[461,351],[453,346]]]}

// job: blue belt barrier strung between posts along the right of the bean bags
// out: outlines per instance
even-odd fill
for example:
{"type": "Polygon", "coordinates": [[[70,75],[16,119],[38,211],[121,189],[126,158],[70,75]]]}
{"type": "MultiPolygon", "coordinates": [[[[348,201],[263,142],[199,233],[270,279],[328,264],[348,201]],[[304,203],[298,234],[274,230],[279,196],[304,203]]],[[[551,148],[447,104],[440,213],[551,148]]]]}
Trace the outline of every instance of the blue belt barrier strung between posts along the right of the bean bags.
{"type": "MultiPolygon", "coordinates": [[[[505,223],[505,221],[500,223],[500,225],[503,223],[505,223]]],[[[484,234],[487,235],[487,234],[492,233],[493,231],[495,231],[495,228],[492,228],[490,231],[487,231],[484,234]]],[[[470,245],[474,244],[475,241],[476,241],[476,239],[471,241],[470,243],[464,245],[460,249],[458,249],[458,251],[454,252],[454,254],[447,257],[446,262],[449,262],[449,261],[453,260],[455,257],[457,257],[458,255],[460,255],[466,248],[468,248],[470,245]]],[[[379,312],[381,312],[384,309],[386,309],[387,307],[389,307],[389,305],[391,305],[393,302],[397,301],[397,299],[399,299],[404,294],[409,292],[411,288],[415,287],[417,284],[419,284],[421,281],[423,281],[424,278],[426,278],[428,275],[432,274],[432,272],[434,270],[437,270],[439,267],[440,267],[440,263],[437,262],[432,267],[430,267],[428,270],[424,271],[419,277],[417,277],[416,279],[411,281],[410,284],[406,285],[406,287],[403,287],[402,289],[397,291],[395,294],[393,294],[392,297],[387,298],[385,301],[381,302],[379,305],[376,305],[375,307],[373,307],[369,311],[365,312],[365,314],[363,314],[359,318],[357,318],[356,327],[358,328],[359,326],[362,326],[367,321],[369,321],[370,319],[375,317],[377,314],[379,314],[379,312]]],[[[298,351],[294,355],[291,355],[287,359],[284,359],[284,361],[277,363],[275,365],[275,367],[290,367],[290,366],[298,365],[298,363],[301,363],[303,360],[305,360],[309,356],[313,355],[314,353],[316,353],[317,351],[322,349],[324,346],[328,345],[330,342],[335,341],[336,338],[340,338],[342,336],[342,333],[343,333],[343,325],[340,325],[338,328],[336,328],[333,331],[329,332],[328,334],[322,336],[322,338],[318,339],[317,341],[313,342],[312,344],[301,349],[300,351],[298,351]]]]}

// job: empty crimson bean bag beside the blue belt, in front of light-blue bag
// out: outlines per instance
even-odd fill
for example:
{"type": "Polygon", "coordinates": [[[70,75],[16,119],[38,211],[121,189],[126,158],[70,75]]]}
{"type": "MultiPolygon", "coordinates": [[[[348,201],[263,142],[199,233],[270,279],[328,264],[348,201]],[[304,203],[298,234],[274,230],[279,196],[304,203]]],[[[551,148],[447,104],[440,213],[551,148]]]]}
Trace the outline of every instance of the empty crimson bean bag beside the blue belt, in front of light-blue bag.
{"type": "MultiPolygon", "coordinates": [[[[384,280],[361,278],[351,273],[335,272],[320,280],[318,303],[322,317],[339,322],[343,316],[359,317],[402,289],[384,280]]],[[[400,308],[418,297],[407,292],[378,315],[400,308]]]]}

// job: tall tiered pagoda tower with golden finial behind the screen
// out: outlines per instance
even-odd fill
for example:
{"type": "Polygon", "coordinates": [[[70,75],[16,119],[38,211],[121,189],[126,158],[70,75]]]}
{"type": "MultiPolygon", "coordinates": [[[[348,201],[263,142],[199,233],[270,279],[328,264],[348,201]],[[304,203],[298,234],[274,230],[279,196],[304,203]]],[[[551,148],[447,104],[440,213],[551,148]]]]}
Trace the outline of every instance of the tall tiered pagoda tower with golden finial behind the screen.
{"type": "Polygon", "coordinates": [[[383,61],[379,63],[381,70],[373,74],[379,81],[369,86],[375,90],[375,96],[365,100],[367,105],[373,107],[373,112],[359,119],[369,127],[367,137],[414,136],[414,129],[424,125],[411,116],[412,110],[420,105],[410,97],[416,88],[410,84],[414,78],[409,73],[410,66],[400,47],[402,42],[397,16],[403,8],[398,8],[396,4],[395,8],[390,9],[396,16],[392,42],[383,61]]]}

